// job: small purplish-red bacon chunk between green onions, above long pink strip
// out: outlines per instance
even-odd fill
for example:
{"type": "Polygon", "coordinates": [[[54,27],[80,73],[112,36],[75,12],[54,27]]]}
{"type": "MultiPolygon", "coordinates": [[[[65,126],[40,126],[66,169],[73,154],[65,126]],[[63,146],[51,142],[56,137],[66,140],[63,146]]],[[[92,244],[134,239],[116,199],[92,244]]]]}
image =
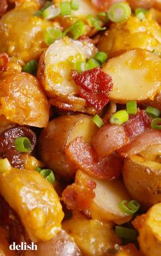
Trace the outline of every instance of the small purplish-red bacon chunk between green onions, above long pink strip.
{"type": "Polygon", "coordinates": [[[145,110],[138,110],[136,115],[130,115],[128,122],[123,125],[126,135],[132,140],[134,137],[143,133],[151,126],[151,118],[145,110]]]}

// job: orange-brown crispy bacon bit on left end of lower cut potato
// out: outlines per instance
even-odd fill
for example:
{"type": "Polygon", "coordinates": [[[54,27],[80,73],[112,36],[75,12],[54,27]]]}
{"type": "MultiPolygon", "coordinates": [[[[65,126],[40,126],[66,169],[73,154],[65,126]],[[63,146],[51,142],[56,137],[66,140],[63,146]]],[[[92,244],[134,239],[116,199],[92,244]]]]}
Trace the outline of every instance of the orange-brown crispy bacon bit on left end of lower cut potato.
{"type": "Polygon", "coordinates": [[[86,211],[95,198],[96,183],[89,179],[84,184],[73,183],[63,191],[63,202],[68,209],[86,211]]]}

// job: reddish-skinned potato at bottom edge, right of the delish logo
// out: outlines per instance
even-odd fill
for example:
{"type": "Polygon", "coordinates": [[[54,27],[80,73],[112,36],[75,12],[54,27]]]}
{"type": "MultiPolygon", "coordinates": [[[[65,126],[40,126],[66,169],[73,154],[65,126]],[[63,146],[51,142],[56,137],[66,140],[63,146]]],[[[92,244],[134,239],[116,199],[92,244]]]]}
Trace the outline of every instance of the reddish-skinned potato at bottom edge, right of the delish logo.
{"type": "Polygon", "coordinates": [[[74,239],[65,231],[57,233],[53,240],[39,242],[38,251],[24,251],[20,256],[81,256],[81,251],[76,246],[74,239]]]}

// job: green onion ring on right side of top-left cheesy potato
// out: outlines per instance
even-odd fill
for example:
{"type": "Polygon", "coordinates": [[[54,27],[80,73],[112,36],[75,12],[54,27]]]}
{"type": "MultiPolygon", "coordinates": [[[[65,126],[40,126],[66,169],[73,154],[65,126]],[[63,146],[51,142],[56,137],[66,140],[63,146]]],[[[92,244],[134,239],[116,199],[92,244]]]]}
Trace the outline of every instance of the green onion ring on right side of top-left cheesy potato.
{"type": "Polygon", "coordinates": [[[54,27],[48,27],[44,33],[44,41],[46,44],[50,45],[59,38],[62,38],[63,33],[59,29],[55,29],[54,27]]]}

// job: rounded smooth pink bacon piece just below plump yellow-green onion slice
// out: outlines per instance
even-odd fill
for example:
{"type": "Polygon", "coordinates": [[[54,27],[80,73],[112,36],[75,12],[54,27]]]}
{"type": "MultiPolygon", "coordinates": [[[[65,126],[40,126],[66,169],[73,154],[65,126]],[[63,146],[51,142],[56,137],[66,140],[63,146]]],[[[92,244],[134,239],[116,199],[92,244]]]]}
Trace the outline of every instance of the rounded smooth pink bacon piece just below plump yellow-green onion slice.
{"type": "Polygon", "coordinates": [[[106,157],[128,142],[130,139],[126,136],[123,126],[106,124],[94,136],[93,148],[98,155],[106,157]]]}

